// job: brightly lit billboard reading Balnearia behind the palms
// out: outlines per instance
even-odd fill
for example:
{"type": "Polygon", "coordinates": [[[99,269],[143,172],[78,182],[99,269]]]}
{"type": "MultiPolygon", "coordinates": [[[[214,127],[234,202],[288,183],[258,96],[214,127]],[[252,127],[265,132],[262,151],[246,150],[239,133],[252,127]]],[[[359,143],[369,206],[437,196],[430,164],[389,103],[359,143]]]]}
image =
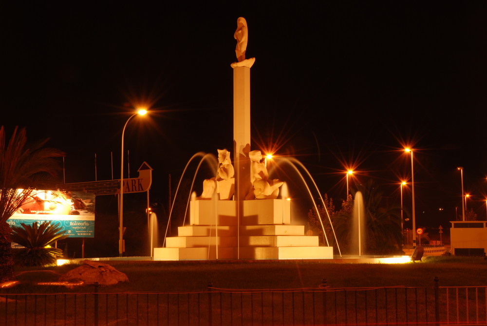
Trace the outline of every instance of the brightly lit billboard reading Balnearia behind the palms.
{"type": "Polygon", "coordinates": [[[7,223],[21,227],[20,223],[53,221],[72,238],[93,238],[94,199],[95,195],[89,192],[37,190],[7,223]]]}

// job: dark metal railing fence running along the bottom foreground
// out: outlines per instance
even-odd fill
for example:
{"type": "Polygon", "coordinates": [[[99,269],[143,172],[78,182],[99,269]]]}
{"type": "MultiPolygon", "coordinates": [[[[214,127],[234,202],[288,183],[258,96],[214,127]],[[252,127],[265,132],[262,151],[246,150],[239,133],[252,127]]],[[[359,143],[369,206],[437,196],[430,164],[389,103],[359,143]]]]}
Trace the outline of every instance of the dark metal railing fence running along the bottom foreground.
{"type": "Polygon", "coordinates": [[[487,325],[487,287],[0,294],[0,325],[487,325]]]}

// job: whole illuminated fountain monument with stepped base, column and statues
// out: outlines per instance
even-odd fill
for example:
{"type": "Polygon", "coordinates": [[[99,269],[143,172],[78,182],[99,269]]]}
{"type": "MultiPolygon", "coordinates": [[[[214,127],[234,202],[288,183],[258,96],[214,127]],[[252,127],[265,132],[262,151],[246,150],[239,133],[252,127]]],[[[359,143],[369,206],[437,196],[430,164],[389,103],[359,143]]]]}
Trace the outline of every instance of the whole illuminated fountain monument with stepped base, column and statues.
{"type": "MultiPolygon", "coordinates": [[[[165,237],[163,247],[154,248],[153,259],[331,259],[333,248],[328,240],[328,246],[320,247],[318,236],[304,235],[303,225],[291,224],[291,201],[283,197],[282,192],[280,194],[284,183],[269,178],[262,153],[250,150],[250,68],[255,58],[245,59],[245,19],[237,20],[234,38],[237,39],[238,62],[231,64],[233,165],[230,152],[218,150],[215,176],[205,180],[200,196],[193,195],[188,200],[189,225],[183,222],[178,236],[165,237]]],[[[202,156],[200,165],[207,155],[199,154],[202,156]]],[[[297,166],[304,168],[295,159],[289,158],[286,162],[298,173],[297,166]]],[[[316,188],[314,181],[313,184],[316,188]]]]}

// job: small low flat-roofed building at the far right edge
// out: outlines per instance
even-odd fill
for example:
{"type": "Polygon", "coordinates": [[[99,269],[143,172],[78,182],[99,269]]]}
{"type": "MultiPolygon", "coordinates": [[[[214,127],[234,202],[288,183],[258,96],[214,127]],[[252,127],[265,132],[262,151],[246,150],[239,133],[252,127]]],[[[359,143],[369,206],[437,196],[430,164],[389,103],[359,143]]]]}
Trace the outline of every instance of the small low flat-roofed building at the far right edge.
{"type": "Polygon", "coordinates": [[[484,256],[487,252],[486,221],[450,221],[451,254],[484,256]]]}

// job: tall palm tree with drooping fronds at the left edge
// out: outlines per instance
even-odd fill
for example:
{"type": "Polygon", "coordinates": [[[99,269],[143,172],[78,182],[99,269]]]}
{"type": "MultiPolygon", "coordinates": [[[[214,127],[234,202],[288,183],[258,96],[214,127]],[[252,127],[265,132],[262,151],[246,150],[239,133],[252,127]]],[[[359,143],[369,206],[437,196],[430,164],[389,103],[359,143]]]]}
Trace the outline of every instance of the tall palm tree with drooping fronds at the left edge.
{"type": "Polygon", "coordinates": [[[0,127],[0,282],[14,277],[10,218],[37,189],[46,187],[46,177],[59,170],[59,150],[44,148],[47,139],[27,145],[25,128],[15,128],[7,141],[0,127]]]}

